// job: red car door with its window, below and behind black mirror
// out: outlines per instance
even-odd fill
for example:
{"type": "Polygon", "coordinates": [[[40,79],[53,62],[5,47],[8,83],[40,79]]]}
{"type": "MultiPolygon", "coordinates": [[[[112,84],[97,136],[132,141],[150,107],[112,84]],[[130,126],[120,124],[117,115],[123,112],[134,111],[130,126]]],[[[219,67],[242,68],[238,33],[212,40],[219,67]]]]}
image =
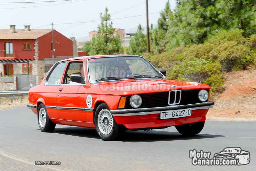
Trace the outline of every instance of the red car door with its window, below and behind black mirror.
{"type": "Polygon", "coordinates": [[[66,71],[59,89],[57,90],[57,111],[64,124],[84,126],[85,116],[85,88],[86,84],[72,83],[71,74],[80,73],[84,76],[84,60],[68,61],[66,71]]]}

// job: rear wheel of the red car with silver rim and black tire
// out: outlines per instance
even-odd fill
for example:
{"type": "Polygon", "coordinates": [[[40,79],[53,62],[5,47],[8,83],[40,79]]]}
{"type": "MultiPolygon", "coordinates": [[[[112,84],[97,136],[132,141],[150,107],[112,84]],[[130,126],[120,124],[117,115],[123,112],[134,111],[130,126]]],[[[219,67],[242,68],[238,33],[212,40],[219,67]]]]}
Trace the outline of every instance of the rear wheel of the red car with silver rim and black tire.
{"type": "Polygon", "coordinates": [[[43,103],[38,107],[37,121],[42,132],[52,132],[55,129],[56,123],[53,123],[49,118],[47,110],[43,103]]]}

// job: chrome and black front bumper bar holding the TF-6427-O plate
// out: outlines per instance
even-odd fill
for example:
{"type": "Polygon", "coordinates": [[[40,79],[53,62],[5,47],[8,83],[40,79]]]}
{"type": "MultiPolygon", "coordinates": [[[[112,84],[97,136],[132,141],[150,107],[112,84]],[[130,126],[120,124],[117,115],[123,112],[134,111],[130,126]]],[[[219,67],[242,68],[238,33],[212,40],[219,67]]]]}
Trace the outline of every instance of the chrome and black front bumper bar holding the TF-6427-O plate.
{"type": "Polygon", "coordinates": [[[191,108],[192,110],[198,109],[209,109],[213,108],[214,102],[204,102],[196,103],[190,105],[175,105],[167,107],[157,107],[157,108],[141,108],[141,109],[119,109],[119,110],[110,110],[113,116],[137,116],[137,115],[150,115],[150,114],[160,114],[162,110],[177,110],[191,108]]]}

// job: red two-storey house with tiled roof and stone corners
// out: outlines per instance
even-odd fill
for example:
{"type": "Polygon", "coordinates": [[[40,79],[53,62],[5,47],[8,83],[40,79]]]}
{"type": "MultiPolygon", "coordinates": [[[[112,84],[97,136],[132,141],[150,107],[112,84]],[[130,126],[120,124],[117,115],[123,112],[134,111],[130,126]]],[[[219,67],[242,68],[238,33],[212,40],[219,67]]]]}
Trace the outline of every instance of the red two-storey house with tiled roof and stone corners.
{"type": "MultiPolygon", "coordinates": [[[[54,57],[73,56],[73,41],[53,30],[54,57]]],[[[0,29],[0,77],[44,75],[44,58],[52,58],[52,29],[0,29]]]]}

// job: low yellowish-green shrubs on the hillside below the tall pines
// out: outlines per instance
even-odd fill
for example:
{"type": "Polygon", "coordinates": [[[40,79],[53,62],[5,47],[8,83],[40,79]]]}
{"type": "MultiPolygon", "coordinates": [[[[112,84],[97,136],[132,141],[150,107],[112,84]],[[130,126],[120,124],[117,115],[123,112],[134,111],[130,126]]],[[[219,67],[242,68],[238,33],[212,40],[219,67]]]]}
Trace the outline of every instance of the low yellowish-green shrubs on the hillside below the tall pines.
{"type": "Polygon", "coordinates": [[[224,84],[223,74],[245,70],[256,63],[256,35],[245,38],[243,31],[222,31],[203,44],[180,46],[161,54],[145,54],[167,79],[188,80],[212,87],[214,93],[224,84]]]}

